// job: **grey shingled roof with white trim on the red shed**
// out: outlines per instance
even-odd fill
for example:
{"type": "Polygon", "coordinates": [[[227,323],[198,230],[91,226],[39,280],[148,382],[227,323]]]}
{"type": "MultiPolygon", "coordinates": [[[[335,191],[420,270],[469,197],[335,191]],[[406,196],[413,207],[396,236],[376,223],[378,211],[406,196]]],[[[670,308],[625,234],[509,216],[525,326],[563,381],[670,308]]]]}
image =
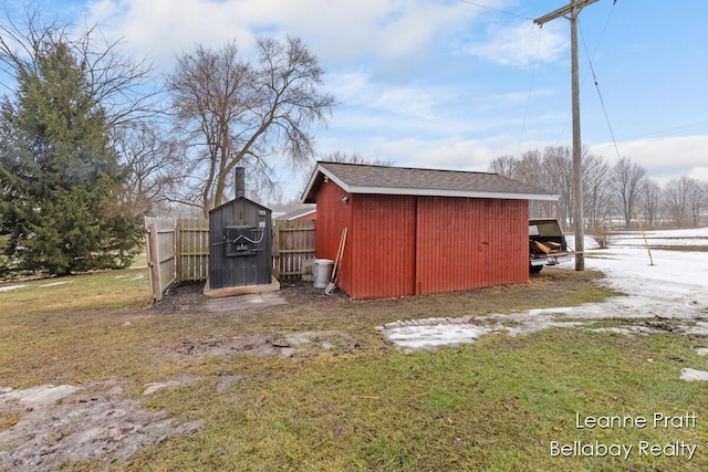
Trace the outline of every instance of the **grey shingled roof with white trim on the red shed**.
{"type": "Polygon", "coordinates": [[[313,203],[330,179],[350,193],[558,200],[559,195],[498,174],[317,162],[302,201],[313,203]]]}

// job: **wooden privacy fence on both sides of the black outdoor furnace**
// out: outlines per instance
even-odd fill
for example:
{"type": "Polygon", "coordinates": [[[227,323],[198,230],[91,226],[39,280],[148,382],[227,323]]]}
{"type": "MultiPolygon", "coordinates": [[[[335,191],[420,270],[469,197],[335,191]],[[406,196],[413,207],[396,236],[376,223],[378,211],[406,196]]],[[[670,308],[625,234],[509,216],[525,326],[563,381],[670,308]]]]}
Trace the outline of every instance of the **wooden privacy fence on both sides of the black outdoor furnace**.
{"type": "MultiPolygon", "coordinates": [[[[273,275],[300,277],[314,259],[315,222],[273,221],[273,275]]],[[[209,220],[145,218],[145,242],[154,301],[173,284],[209,279],[209,220]]]]}

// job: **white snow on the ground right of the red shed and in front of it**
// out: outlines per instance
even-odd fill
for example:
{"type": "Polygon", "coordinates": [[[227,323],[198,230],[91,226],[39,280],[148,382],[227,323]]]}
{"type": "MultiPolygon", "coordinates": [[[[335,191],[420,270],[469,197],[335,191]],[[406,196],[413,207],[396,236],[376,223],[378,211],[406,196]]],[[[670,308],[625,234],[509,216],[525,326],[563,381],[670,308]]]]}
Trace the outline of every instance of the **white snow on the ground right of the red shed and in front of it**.
{"type": "MultiPolygon", "coordinates": [[[[647,240],[655,247],[701,245],[708,249],[708,228],[652,231],[647,233],[647,240]]],[[[626,294],[624,296],[576,307],[395,322],[379,329],[404,349],[473,343],[485,334],[499,331],[519,335],[554,326],[579,326],[584,321],[598,318],[675,319],[685,322],[677,326],[679,332],[708,336],[708,251],[653,250],[652,265],[643,244],[638,232],[615,238],[605,250],[596,249],[591,239],[585,244],[585,268],[605,272],[605,283],[626,294]]],[[[574,262],[565,268],[574,270],[574,262]]],[[[650,331],[646,326],[615,329],[627,334],[650,331]]]]}

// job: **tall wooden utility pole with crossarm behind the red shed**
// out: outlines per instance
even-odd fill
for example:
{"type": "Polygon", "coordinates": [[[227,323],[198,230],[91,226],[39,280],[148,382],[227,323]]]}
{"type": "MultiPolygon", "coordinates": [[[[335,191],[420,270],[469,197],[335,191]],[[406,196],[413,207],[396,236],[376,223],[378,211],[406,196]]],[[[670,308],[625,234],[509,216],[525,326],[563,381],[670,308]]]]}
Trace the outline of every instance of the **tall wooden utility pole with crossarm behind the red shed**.
{"type": "Polygon", "coordinates": [[[583,167],[582,144],[580,138],[580,78],[577,73],[577,15],[581,10],[597,0],[570,0],[543,17],[533,20],[543,27],[551,20],[563,17],[571,21],[571,74],[573,93],[573,233],[575,233],[575,270],[585,270],[585,229],[583,227],[583,167]]]}

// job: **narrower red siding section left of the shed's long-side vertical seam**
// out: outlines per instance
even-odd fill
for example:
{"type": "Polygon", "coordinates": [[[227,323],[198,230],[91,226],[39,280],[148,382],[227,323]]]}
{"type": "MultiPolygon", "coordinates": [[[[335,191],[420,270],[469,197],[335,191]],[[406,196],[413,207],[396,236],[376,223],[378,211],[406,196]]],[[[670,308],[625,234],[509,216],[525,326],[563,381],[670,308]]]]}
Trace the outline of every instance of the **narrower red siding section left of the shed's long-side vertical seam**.
{"type": "Polygon", "coordinates": [[[415,294],[416,200],[354,195],[345,271],[355,298],[415,294]]]}

